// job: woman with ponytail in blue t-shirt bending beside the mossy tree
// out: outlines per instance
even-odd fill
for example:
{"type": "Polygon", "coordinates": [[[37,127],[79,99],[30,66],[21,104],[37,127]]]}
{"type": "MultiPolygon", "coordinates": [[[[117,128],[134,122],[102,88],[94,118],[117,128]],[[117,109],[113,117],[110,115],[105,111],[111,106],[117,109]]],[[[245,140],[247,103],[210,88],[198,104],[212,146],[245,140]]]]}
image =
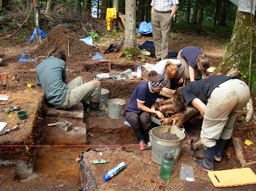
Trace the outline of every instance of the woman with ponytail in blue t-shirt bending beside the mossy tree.
{"type": "Polygon", "coordinates": [[[178,53],[177,59],[185,66],[186,80],[190,79],[193,82],[206,78],[206,70],[210,67],[210,61],[199,48],[185,47],[178,53]]]}

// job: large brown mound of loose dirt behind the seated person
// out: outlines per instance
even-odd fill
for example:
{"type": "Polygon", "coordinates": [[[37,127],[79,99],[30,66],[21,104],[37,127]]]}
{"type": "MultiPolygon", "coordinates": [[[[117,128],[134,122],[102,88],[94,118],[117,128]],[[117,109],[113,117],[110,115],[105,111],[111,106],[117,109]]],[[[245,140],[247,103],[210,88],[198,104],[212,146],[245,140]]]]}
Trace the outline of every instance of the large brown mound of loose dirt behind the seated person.
{"type": "Polygon", "coordinates": [[[62,51],[68,57],[68,47],[70,57],[76,59],[88,58],[91,53],[99,51],[94,46],[90,46],[76,38],[62,24],[58,24],[51,29],[47,34],[46,40],[40,43],[39,47],[31,55],[37,57],[46,56],[53,48],[56,48],[57,51],[62,51]]]}

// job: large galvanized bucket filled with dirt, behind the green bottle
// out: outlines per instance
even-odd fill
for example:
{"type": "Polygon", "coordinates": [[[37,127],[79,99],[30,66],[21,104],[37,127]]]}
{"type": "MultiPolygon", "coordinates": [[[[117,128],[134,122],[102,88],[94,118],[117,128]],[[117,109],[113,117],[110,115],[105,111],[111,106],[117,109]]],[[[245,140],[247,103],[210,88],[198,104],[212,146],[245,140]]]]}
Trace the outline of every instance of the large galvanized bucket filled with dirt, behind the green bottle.
{"type": "Polygon", "coordinates": [[[183,139],[185,138],[184,130],[171,126],[155,127],[150,130],[150,143],[152,143],[152,159],[158,164],[161,164],[165,153],[172,153],[174,157],[173,164],[177,163],[183,139]],[[177,141],[167,141],[155,137],[156,133],[166,133],[170,128],[169,133],[176,134],[180,139],[177,141]]]}

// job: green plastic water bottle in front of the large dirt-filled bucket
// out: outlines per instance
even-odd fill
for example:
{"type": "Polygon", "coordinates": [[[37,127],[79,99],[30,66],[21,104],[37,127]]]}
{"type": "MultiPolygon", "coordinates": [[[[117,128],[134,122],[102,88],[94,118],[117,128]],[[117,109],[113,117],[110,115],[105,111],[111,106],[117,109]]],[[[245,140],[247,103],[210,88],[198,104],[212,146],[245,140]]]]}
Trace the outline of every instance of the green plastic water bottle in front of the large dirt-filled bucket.
{"type": "Polygon", "coordinates": [[[163,179],[168,179],[171,177],[172,174],[172,165],[173,165],[173,155],[171,153],[165,153],[162,163],[161,163],[161,168],[160,168],[160,173],[159,176],[163,179]]]}

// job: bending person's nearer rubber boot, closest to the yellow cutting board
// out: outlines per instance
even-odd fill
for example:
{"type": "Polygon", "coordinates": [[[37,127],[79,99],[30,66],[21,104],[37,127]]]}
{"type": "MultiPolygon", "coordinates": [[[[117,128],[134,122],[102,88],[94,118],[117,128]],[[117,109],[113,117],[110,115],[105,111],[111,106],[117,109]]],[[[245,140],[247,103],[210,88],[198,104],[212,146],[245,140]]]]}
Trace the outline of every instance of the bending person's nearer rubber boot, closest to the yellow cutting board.
{"type": "Polygon", "coordinates": [[[195,163],[199,164],[206,172],[213,170],[213,159],[214,159],[215,146],[206,148],[204,146],[204,158],[202,160],[196,159],[195,163]]]}

